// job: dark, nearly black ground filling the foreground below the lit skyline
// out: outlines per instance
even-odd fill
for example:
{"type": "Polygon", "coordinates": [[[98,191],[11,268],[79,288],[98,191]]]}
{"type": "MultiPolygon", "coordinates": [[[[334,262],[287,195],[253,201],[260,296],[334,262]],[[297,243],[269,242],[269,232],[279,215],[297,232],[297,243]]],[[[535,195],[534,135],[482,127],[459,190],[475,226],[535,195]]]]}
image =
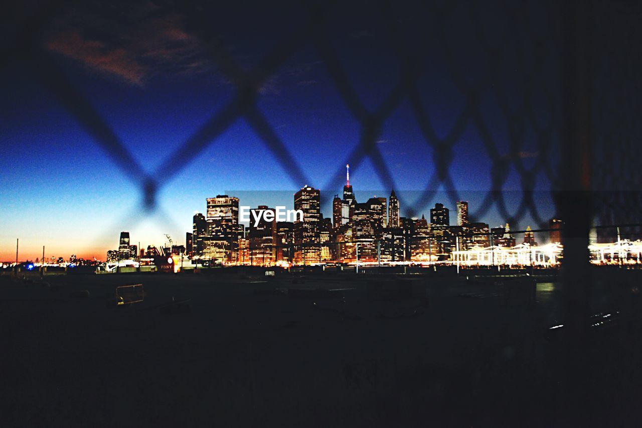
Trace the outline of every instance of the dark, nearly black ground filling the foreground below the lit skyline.
{"type": "Polygon", "coordinates": [[[1,276],[0,426],[639,426],[638,278],[598,281],[578,352],[550,330],[555,283],[530,304],[428,275],[412,296],[373,292],[398,276],[1,276]],[[108,307],[126,283],[144,301],[108,307]]]}

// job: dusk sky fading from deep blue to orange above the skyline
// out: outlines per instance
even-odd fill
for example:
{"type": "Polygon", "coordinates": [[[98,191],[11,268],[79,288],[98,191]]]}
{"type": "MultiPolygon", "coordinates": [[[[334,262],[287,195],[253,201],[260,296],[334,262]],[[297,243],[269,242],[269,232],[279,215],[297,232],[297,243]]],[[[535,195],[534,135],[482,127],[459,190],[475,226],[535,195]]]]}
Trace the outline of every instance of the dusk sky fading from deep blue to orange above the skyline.
{"type": "MultiPolygon", "coordinates": [[[[401,215],[428,217],[429,208],[443,202],[451,209],[451,223],[456,221],[453,195],[430,182],[443,159],[435,141],[430,144],[422,134],[405,92],[372,138],[392,183],[379,174],[377,159],[354,157],[361,121],[342,97],[328,55],[297,33],[308,28],[310,16],[299,3],[205,6],[196,13],[202,19],[164,2],[75,4],[43,14],[37,49],[29,50],[20,44],[19,30],[22,23],[37,21],[30,14],[39,6],[16,10],[13,26],[4,28],[13,35],[4,40],[20,46],[21,55],[0,69],[0,260],[15,259],[16,238],[21,260],[35,260],[42,245],[46,256],[104,260],[123,230],[143,247],[164,244],[165,234],[183,244],[193,214],[205,211],[205,198],[222,193],[236,193],[241,205],[291,208],[293,198],[288,201],[287,195],[310,185],[322,190],[322,212],[331,217],[331,199],[342,191],[346,163],[352,164],[358,201],[387,197],[392,184],[401,215]],[[256,123],[238,118],[172,174],[172,162],[187,153],[184,143],[236,93],[233,79],[213,60],[211,40],[204,40],[213,33],[244,70],[263,64],[275,46],[296,40],[293,33],[302,40],[256,88],[257,111],[284,150],[271,150],[265,132],[252,126],[256,123]],[[47,62],[33,60],[41,57],[47,62]],[[141,183],[114,161],[114,150],[97,143],[78,113],[52,91],[47,82],[58,71],[98,112],[143,174],[157,179],[153,209],[143,204],[141,183]],[[275,155],[284,151],[290,155],[285,160],[275,155]]],[[[535,60],[522,55],[527,49],[519,49],[517,41],[505,40],[502,31],[510,29],[496,25],[497,11],[478,12],[488,29],[482,30],[485,39],[490,45],[503,40],[505,46],[496,67],[475,33],[472,15],[465,13],[455,21],[448,13],[437,18],[419,3],[392,10],[370,1],[337,3],[326,10],[321,28],[347,91],[370,112],[404,81],[400,53],[413,53],[421,70],[413,89],[416,100],[437,138],[458,131],[447,171],[458,199],[469,201],[471,213],[483,214],[478,220],[504,224],[506,216],[496,204],[484,204],[485,197],[498,191],[513,215],[526,185],[534,190],[540,219],[548,222],[555,215],[550,179],[538,170],[532,183],[525,183],[518,170],[519,165],[557,168],[555,134],[542,132],[555,109],[542,108],[550,100],[536,85],[525,89],[525,70],[532,70],[535,60]],[[435,39],[436,23],[447,43],[435,39]],[[470,106],[465,87],[478,89],[478,103],[475,113],[458,123],[470,106]],[[498,174],[505,174],[500,186],[492,181],[498,174]]],[[[544,60],[538,73],[551,73],[550,63],[544,60]]],[[[512,229],[539,226],[530,213],[518,220],[512,229]]]]}

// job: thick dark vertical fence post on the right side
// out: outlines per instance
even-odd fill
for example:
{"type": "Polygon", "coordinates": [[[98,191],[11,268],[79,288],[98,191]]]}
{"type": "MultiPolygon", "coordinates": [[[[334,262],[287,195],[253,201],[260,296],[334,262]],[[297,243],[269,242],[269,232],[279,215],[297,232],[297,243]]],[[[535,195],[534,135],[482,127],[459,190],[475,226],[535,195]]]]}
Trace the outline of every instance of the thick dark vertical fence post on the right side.
{"type": "MultiPolygon", "coordinates": [[[[562,278],[566,334],[566,388],[562,400],[569,411],[580,410],[586,398],[589,371],[586,341],[589,324],[589,230],[591,227],[591,157],[593,156],[590,49],[593,4],[562,2],[562,87],[564,116],[560,156],[560,192],[556,205],[562,218],[562,278]]],[[[580,413],[577,413],[578,415],[580,413]]]]}

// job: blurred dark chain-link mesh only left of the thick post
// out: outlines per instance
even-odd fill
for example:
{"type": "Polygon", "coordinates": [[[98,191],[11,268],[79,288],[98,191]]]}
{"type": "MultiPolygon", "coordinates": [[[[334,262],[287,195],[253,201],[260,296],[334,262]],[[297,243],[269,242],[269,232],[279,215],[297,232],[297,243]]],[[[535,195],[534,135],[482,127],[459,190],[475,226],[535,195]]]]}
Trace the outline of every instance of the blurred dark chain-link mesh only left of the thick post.
{"type": "MultiPolygon", "coordinates": [[[[4,60],[26,60],[31,63],[42,84],[55,94],[61,105],[137,185],[141,191],[143,206],[149,212],[158,210],[156,202],[160,189],[205,147],[216,144],[221,134],[239,118],[245,119],[260,136],[293,183],[309,182],[305,168],[299,165],[291,154],[291,149],[266,120],[265,113],[257,107],[257,98],[263,84],[277,73],[288,58],[304,46],[311,46],[323,62],[352,119],[359,123],[361,129],[358,144],[337,165],[336,173],[322,188],[338,188],[343,181],[343,165],[350,163],[353,170],[358,170],[365,159],[372,162],[386,188],[399,188],[400,183],[395,183],[390,166],[386,165],[385,157],[377,147],[377,139],[381,136],[386,120],[401,103],[408,102],[425,139],[425,150],[433,156],[433,165],[426,166],[431,170],[431,177],[421,197],[416,201],[401,201],[411,216],[425,210],[439,188],[446,190],[453,204],[460,200],[451,165],[456,157],[458,144],[462,143],[462,135],[472,128],[489,159],[492,184],[486,190],[487,194],[480,208],[471,217],[481,218],[494,207],[509,223],[517,222],[530,214],[543,227],[548,219],[539,214],[533,192],[538,177],[541,177],[540,173],[544,175],[546,183],[558,183],[556,159],[559,156],[555,153],[555,142],[559,141],[561,91],[555,71],[561,64],[555,43],[558,37],[555,22],[541,26],[539,20],[558,19],[555,6],[532,4],[530,8],[523,8],[498,4],[496,9],[489,10],[486,5],[466,2],[405,4],[397,7],[382,1],[364,5],[380,15],[383,25],[381,31],[385,33],[383,37],[388,39],[387,43],[394,49],[401,70],[398,82],[392,85],[392,90],[374,109],[366,107],[361,101],[342,66],[336,46],[333,45],[332,28],[329,28],[327,21],[329,15],[340,11],[338,4],[306,4],[309,15],[307,20],[288,23],[295,30],[278,40],[273,49],[265,53],[252,69],[245,69],[239,64],[226,48],[224,35],[218,34],[216,27],[211,25],[209,17],[216,15],[216,6],[193,2],[159,6],[162,11],[154,13],[180,14],[186,30],[204,43],[209,59],[216,65],[216,73],[221,73],[235,87],[236,96],[215,112],[200,129],[195,130],[152,173],[146,172],[146,168],[135,160],[113,127],[98,113],[96,106],[74,87],[60,69],[60,64],[52,60],[51,49],[47,48],[50,24],[55,22],[56,13],[64,15],[65,8],[47,8],[47,4],[43,4],[42,7],[31,10],[15,26],[15,33],[10,40],[15,40],[16,43],[10,42],[4,60]],[[532,12],[536,14],[531,15],[532,12]],[[496,16],[494,13],[500,15],[496,16]],[[412,35],[412,43],[408,42],[408,35],[401,28],[403,24],[407,25],[406,21],[410,17],[415,18],[416,22],[413,24],[419,30],[412,35]],[[453,31],[449,27],[453,20],[460,21],[455,31],[462,31],[464,28],[466,31],[462,34],[453,31]],[[493,38],[487,35],[487,23],[498,26],[492,29],[493,38]],[[466,54],[480,57],[480,70],[473,73],[479,75],[479,78],[471,79],[471,73],[462,68],[462,58],[458,58],[457,49],[464,43],[470,46],[465,51],[466,54]],[[430,58],[431,62],[438,61],[446,68],[453,91],[461,94],[461,105],[458,106],[460,113],[451,121],[449,129],[440,127],[440,132],[435,128],[435,118],[428,112],[420,87],[426,85],[425,80],[431,67],[426,56],[433,53],[435,46],[440,52],[438,57],[430,58]],[[513,67],[516,70],[505,80],[505,71],[513,67]],[[497,117],[492,118],[492,123],[489,123],[485,115],[490,104],[498,112],[497,117]],[[500,126],[506,127],[501,141],[492,129],[500,126]],[[526,141],[527,139],[530,141],[526,141]],[[534,161],[529,162],[531,165],[526,165],[525,158],[530,157],[529,154],[532,154],[534,161]],[[507,206],[504,199],[503,190],[511,170],[519,175],[522,188],[517,206],[507,206]]],[[[74,3],[67,7],[73,8],[74,3]]]]}

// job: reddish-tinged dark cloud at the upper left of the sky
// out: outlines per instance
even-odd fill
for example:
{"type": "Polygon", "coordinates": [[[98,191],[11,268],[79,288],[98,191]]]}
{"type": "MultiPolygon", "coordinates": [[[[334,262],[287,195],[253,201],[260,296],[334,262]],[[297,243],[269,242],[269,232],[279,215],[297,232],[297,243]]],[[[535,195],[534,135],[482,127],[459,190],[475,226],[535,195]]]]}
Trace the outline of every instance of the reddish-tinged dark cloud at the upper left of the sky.
{"type": "Polygon", "coordinates": [[[46,48],[137,86],[155,75],[213,71],[204,46],[184,30],[180,15],[159,14],[153,3],[116,15],[91,6],[62,15],[49,31],[46,48]]]}

